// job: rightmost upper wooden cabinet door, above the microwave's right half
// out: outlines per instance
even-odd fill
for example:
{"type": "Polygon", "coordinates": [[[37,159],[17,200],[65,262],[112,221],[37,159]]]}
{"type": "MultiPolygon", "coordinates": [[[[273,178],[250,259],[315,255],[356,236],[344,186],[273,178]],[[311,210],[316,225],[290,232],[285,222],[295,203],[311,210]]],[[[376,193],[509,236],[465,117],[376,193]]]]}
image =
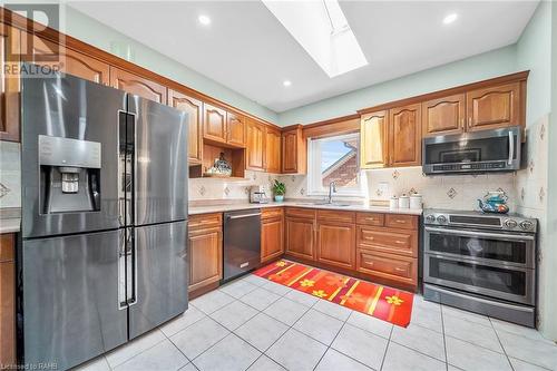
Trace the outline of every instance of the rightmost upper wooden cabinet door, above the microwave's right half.
{"type": "Polygon", "coordinates": [[[468,131],[520,124],[520,82],[471,90],[466,99],[468,131]]]}

